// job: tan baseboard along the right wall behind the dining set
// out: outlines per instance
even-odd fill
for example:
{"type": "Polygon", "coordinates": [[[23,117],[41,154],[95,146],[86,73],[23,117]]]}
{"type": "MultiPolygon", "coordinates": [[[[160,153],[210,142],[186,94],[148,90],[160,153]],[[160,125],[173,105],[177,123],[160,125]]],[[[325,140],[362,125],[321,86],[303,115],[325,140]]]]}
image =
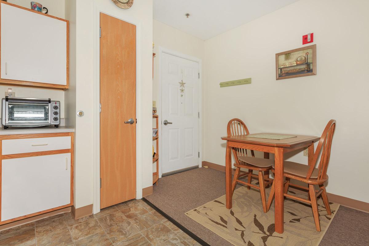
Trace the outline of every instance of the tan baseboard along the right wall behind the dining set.
{"type": "MultiPolygon", "coordinates": [[[[209,168],[225,172],[225,166],[222,166],[219,164],[203,161],[202,166],[208,166],[209,168]]],[[[234,169],[232,169],[232,174],[233,173],[234,173],[234,169]]],[[[299,191],[298,189],[293,189],[293,190],[299,191]]],[[[335,202],[345,207],[354,208],[354,209],[357,209],[363,212],[369,212],[368,202],[363,202],[363,201],[351,199],[348,197],[342,197],[341,195],[335,195],[335,194],[328,193],[328,192],[327,192],[327,195],[328,195],[329,201],[331,202],[335,202]]]]}

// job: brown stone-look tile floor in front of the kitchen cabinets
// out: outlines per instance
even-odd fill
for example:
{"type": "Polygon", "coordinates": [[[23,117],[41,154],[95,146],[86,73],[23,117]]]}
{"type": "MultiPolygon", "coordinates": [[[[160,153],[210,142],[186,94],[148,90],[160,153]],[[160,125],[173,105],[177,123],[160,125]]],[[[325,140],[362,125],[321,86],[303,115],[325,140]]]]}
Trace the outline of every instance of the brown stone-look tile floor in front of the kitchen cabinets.
{"type": "Polygon", "coordinates": [[[0,246],[200,246],[142,200],[74,220],[59,214],[0,231],[0,246]]]}

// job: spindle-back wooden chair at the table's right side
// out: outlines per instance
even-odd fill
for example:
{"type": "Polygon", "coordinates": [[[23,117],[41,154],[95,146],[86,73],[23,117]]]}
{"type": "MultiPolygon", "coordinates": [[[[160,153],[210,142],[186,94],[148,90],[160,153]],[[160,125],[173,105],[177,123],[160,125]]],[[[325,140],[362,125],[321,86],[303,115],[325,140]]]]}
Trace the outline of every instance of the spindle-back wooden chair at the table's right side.
{"type": "MultiPolygon", "coordinates": [[[[334,119],[331,119],[323,131],[323,134],[320,138],[317,149],[315,150],[313,161],[311,162],[310,166],[296,163],[296,162],[288,162],[288,161],[284,162],[283,175],[284,177],[286,177],[286,181],[284,183],[284,192],[283,192],[284,197],[288,197],[294,200],[307,202],[311,204],[311,207],[313,209],[315,227],[318,232],[321,231],[320,222],[319,222],[318,204],[317,204],[317,197],[319,195],[321,195],[323,198],[323,202],[324,202],[325,209],[327,210],[327,214],[331,215],[331,208],[329,206],[328,196],[327,196],[327,192],[325,191],[324,182],[328,180],[327,168],[328,168],[328,163],[329,163],[329,159],[331,155],[332,138],[333,138],[335,127],[336,127],[336,121],[334,119]],[[318,168],[315,168],[321,150],[322,150],[322,154],[320,157],[320,162],[319,162],[318,168]],[[296,184],[291,184],[290,179],[303,181],[304,183],[308,184],[308,188],[299,186],[296,184]],[[315,190],[314,184],[320,187],[319,190],[315,190]],[[288,188],[290,186],[300,188],[303,190],[307,190],[308,198],[304,199],[304,198],[296,197],[294,195],[287,194],[288,188]]],[[[274,166],[273,166],[272,171],[274,172],[274,166]]],[[[268,206],[267,206],[268,211],[269,211],[270,205],[273,202],[274,194],[275,194],[275,190],[274,190],[274,182],[273,182],[272,189],[270,190],[270,195],[268,199],[268,206]]]]}

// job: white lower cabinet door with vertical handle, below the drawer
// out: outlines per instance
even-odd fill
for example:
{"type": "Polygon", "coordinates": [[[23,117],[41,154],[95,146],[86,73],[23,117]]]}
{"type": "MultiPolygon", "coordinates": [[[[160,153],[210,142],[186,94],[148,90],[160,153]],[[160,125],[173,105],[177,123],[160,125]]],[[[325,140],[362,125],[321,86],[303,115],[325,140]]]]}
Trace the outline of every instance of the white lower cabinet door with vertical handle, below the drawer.
{"type": "Polygon", "coordinates": [[[1,221],[70,204],[70,153],[1,161],[1,221]]]}

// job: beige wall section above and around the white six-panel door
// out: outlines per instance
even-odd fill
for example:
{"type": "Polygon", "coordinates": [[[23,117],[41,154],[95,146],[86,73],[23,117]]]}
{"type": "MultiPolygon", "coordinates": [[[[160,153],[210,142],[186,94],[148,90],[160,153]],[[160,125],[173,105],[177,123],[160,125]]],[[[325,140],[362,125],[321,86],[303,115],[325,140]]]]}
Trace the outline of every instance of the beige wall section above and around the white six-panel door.
{"type": "MultiPolygon", "coordinates": [[[[158,83],[159,83],[159,46],[182,53],[184,55],[192,56],[204,61],[204,41],[200,38],[196,38],[190,34],[179,31],[176,28],[170,27],[162,22],[154,20],[154,53],[156,56],[154,58],[154,79],[152,81],[152,100],[156,101],[156,106],[158,107],[158,83]]],[[[204,66],[202,66],[202,81],[204,81],[204,66]]],[[[204,93],[204,91],[202,91],[204,93]]],[[[202,96],[202,105],[204,105],[204,94],[202,96]]],[[[158,112],[159,113],[159,112],[158,112]]],[[[155,126],[155,121],[154,126],[155,126]]],[[[204,128],[204,120],[203,120],[204,128]]],[[[156,145],[154,143],[154,148],[156,152],[156,145]]],[[[156,164],[153,164],[153,170],[156,170],[156,164]]]]}

